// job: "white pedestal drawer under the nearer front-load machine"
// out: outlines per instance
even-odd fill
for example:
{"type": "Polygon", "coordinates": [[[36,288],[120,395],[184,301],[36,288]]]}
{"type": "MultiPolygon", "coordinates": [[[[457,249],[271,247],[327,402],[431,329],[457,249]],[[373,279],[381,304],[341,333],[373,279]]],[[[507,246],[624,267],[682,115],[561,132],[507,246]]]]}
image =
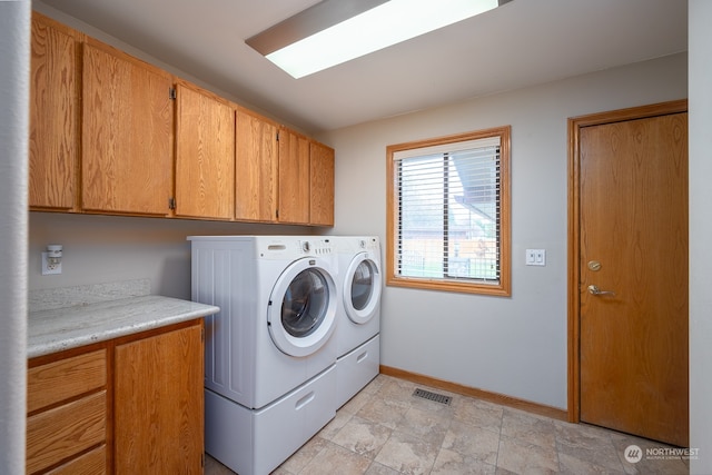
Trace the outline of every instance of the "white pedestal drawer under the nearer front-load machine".
{"type": "Polygon", "coordinates": [[[261,409],[205,389],[205,452],[240,475],[269,474],[334,418],[335,386],[332,366],[261,409]]]}

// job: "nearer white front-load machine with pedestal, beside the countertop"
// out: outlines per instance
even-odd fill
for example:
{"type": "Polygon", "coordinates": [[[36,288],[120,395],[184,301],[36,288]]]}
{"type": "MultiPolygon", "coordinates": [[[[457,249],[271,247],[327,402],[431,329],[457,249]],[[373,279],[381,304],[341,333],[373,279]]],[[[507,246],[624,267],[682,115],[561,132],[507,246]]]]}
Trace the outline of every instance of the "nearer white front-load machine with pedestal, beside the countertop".
{"type": "Polygon", "coordinates": [[[267,474],[336,415],[338,276],[320,237],[191,236],[206,319],[206,452],[267,474]]]}

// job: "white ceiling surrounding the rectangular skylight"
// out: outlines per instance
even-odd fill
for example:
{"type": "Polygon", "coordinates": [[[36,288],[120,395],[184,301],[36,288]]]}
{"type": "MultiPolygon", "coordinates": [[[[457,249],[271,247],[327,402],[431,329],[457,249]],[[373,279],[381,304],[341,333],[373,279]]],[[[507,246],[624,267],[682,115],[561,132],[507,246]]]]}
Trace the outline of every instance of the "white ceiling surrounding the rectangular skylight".
{"type": "Polygon", "coordinates": [[[317,2],[42,1],[310,133],[688,49],[686,0],[513,0],[301,79],[245,44],[317,2]]]}

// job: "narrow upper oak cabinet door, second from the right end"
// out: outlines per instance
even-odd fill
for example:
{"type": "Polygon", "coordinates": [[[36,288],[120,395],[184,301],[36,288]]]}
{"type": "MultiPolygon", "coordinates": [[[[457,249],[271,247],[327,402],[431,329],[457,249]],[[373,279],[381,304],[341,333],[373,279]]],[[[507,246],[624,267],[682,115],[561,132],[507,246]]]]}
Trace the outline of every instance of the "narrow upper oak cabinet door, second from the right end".
{"type": "Polygon", "coordinates": [[[309,222],[309,139],[279,130],[279,222],[309,222]]]}

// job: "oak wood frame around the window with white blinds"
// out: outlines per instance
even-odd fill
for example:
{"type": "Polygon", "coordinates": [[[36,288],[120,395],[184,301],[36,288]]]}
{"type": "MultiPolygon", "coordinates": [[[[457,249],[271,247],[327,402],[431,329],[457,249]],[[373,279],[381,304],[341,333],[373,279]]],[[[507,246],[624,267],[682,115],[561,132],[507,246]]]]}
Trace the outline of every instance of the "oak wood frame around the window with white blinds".
{"type": "Polygon", "coordinates": [[[386,147],[386,285],[428,290],[456,291],[466,294],[508,297],[512,295],[511,268],[511,135],[512,126],[494,127],[452,136],[435,137],[425,140],[389,145],[386,147]],[[500,138],[500,281],[487,284],[477,280],[448,279],[434,277],[403,277],[396,274],[398,256],[398,159],[397,151],[443,146],[468,140],[500,138]]]}

